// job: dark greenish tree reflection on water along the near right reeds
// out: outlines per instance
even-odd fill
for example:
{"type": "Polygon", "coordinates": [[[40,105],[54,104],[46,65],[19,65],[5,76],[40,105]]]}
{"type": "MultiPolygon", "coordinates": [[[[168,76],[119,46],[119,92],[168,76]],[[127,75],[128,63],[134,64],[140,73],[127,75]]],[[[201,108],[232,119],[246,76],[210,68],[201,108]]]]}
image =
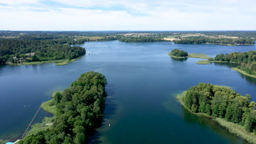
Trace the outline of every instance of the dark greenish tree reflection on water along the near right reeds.
{"type": "Polygon", "coordinates": [[[187,109],[185,109],[184,106],[182,106],[182,110],[183,110],[185,122],[191,125],[199,125],[203,129],[210,129],[211,131],[213,131],[218,135],[227,137],[230,141],[232,141],[232,143],[247,144],[246,141],[237,139],[237,136],[232,135],[228,130],[226,130],[224,127],[219,125],[217,122],[212,121],[211,118],[195,115],[189,112],[187,109]]]}

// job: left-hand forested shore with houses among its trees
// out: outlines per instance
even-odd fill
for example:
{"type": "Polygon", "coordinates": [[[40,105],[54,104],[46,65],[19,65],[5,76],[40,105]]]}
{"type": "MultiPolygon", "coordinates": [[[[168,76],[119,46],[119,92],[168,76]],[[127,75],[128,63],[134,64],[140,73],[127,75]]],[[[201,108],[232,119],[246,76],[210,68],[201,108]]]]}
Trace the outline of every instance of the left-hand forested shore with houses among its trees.
{"type": "Polygon", "coordinates": [[[0,64],[73,59],[84,54],[83,47],[60,40],[0,39],[0,64]]]}

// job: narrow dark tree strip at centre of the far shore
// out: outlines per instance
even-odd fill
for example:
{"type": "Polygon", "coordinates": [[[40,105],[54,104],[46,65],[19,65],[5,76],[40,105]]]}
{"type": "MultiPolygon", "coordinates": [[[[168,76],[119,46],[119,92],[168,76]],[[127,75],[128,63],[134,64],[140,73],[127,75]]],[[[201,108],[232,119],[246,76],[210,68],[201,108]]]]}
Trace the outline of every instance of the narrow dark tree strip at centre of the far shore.
{"type": "Polygon", "coordinates": [[[162,38],[156,38],[156,37],[121,37],[118,40],[125,43],[146,43],[146,42],[168,41],[168,40],[164,40],[162,38]]]}

